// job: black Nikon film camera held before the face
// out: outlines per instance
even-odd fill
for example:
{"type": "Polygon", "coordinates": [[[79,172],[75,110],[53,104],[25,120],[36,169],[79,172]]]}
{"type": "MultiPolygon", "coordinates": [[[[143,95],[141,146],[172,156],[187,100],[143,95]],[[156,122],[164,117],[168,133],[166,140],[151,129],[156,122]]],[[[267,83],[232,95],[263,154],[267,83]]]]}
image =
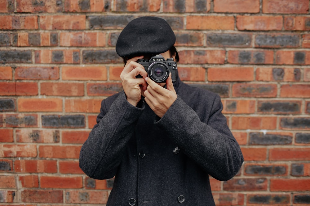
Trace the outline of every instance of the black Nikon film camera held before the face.
{"type": "MultiPolygon", "coordinates": [[[[161,54],[157,54],[151,57],[149,61],[147,59],[139,59],[137,62],[144,67],[145,71],[148,73],[148,77],[154,82],[166,82],[166,79],[169,77],[169,72],[171,72],[172,82],[176,81],[175,73],[177,66],[173,58],[165,60],[161,54]]],[[[138,75],[136,78],[142,77],[138,75]]]]}

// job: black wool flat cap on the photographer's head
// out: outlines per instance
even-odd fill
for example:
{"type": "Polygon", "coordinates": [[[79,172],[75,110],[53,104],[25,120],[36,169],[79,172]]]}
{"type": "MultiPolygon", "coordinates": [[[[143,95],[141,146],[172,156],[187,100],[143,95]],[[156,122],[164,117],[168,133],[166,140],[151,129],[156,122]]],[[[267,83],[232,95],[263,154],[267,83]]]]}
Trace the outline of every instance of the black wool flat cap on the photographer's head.
{"type": "Polygon", "coordinates": [[[175,44],[175,34],[166,20],[144,16],[132,20],[119,35],[116,52],[120,57],[159,54],[175,44]]]}

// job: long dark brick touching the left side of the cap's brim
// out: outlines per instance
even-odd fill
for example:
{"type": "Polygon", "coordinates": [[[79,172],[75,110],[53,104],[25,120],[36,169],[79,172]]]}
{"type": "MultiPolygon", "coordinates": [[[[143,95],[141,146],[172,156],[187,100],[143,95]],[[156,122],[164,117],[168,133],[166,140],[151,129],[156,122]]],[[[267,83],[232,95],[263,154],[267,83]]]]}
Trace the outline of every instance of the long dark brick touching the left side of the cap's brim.
{"type": "Polygon", "coordinates": [[[84,64],[121,63],[115,50],[86,50],[82,53],[84,64]]]}

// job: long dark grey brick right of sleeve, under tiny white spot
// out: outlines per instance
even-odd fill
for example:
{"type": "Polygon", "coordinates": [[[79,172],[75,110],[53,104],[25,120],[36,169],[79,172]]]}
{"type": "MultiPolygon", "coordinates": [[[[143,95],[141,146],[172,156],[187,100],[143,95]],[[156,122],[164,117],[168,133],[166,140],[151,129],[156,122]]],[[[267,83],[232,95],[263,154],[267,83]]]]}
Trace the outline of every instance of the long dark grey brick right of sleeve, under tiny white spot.
{"type": "Polygon", "coordinates": [[[250,145],[289,145],[292,137],[276,134],[264,134],[262,132],[250,133],[250,145]]]}

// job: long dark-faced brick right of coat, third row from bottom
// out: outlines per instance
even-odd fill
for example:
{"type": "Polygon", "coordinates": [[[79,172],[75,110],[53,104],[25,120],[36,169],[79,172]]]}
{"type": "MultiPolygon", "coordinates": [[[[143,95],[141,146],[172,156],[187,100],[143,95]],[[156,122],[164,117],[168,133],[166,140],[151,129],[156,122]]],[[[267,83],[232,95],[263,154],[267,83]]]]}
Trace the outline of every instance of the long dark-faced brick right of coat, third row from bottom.
{"type": "Polygon", "coordinates": [[[275,165],[248,165],[245,168],[247,174],[281,175],[286,173],[286,167],[275,165]]]}

